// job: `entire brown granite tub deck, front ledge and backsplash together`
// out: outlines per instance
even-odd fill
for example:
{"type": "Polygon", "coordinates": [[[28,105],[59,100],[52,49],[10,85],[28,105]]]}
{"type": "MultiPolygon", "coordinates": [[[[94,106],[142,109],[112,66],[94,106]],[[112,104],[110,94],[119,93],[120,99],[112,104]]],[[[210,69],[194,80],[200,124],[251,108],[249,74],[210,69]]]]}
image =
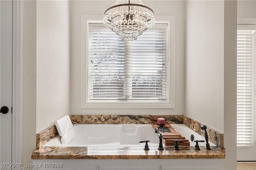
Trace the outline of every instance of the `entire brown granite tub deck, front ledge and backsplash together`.
{"type": "MultiPolygon", "coordinates": [[[[166,123],[186,125],[203,136],[200,131],[202,123],[184,115],[70,115],[73,124],[148,124],[164,117],[166,123]]],[[[217,147],[212,150],[196,151],[194,147],[180,147],[175,151],[173,147],[150,147],[144,151],[143,147],[43,147],[50,139],[58,135],[55,125],[36,134],[36,149],[32,159],[216,159],[225,158],[224,135],[210,127],[207,129],[209,141],[217,147]]]]}

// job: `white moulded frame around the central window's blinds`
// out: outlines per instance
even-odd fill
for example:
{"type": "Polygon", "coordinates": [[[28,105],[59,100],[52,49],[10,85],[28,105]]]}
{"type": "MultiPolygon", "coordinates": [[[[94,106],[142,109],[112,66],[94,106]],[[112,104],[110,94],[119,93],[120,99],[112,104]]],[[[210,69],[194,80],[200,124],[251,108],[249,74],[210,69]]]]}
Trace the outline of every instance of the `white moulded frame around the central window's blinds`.
{"type": "MultiPolygon", "coordinates": [[[[168,24],[168,98],[164,102],[156,101],[89,101],[88,100],[88,57],[89,23],[102,23],[102,16],[82,16],[82,57],[81,57],[81,108],[174,108],[174,16],[155,16],[156,23],[168,24]]],[[[139,37],[138,37],[139,38],[139,37]]]]}

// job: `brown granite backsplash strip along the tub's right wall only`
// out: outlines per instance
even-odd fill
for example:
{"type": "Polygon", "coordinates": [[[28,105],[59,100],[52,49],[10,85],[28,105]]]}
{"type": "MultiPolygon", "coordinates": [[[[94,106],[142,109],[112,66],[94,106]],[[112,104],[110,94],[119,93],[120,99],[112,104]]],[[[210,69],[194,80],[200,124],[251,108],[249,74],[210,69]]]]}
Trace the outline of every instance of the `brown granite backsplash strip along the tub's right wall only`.
{"type": "MultiPolygon", "coordinates": [[[[204,131],[200,128],[203,123],[196,121],[188,116],[184,116],[183,124],[195,131],[196,133],[200,134],[204,137],[204,131]]],[[[224,134],[212,129],[211,127],[207,127],[206,129],[208,134],[208,139],[212,143],[214,143],[217,147],[224,148],[224,134]]],[[[196,140],[196,139],[195,139],[196,140]]]]}

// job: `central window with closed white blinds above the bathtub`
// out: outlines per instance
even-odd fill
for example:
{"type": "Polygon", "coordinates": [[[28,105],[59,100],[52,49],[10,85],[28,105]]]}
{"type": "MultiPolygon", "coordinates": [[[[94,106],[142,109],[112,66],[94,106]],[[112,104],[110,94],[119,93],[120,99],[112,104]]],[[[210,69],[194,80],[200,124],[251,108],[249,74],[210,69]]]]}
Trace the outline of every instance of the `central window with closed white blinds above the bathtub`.
{"type": "Polygon", "coordinates": [[[173,107],[170,21],[156,23],[136,41],[86,22],[82,107],[173,107]]]}

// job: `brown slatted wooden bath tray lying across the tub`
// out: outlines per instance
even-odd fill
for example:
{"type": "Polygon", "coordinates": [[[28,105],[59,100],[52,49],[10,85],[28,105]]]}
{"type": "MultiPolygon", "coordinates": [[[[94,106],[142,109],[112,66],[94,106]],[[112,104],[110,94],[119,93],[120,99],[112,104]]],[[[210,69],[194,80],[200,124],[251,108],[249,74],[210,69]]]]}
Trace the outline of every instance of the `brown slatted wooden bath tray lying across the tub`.
{"type": "MultiPolygon", "coordinates": [[[[156,127],[160,127],[160,125],[157,124],[156,121],[151,123],[154,131],[156,131],[156,127]]],[[[182,140],[184,143],[178,143],[179,146],[190,146],[190,142],[182,136],[180,133],[174,130],[174,128],[170,124],[165,124],[164,126],[161,127],[168,127],[171,132],[161,132],[162,137],[163,137],[163,144],[165,146],[174,146],[174,140],[182,140]]]]}

